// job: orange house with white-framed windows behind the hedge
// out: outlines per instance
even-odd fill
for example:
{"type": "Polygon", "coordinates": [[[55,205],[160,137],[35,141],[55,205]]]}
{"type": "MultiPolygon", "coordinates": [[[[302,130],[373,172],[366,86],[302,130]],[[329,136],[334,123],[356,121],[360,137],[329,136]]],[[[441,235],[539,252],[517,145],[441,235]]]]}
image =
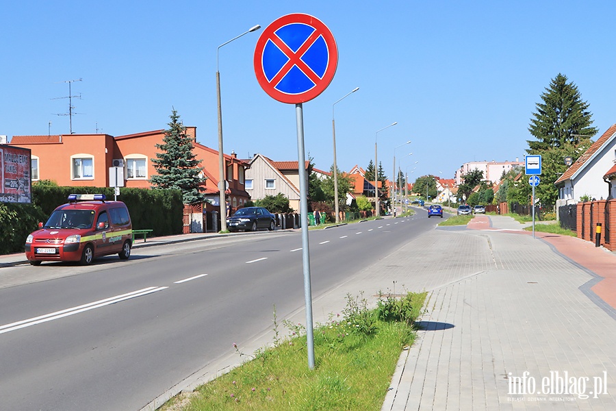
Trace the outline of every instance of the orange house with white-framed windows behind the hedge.
{"type": "MultiPolygon", "coordinates": [[[[201,160],[205,181],[204,209],[218,211],[218,151],[196,142],[196,127],[186,127],[194,138],[194,151],[201,160]]],[[[156,174],[152,158],[159,152],[164,129],[126,136],[108,134],[63,134],[59,136],[13,136],[11,145],[31,150],[32,181],[53,180],[60,186],[110,187],[110,167],[121,166],[128,188],[150,188],[149,179],[156,174]]],[[[248,163],[235,153],[224,155],[224,169],[229,182],[227,196],[233,209],[250,199],[244,190],[248,163]]],[[[120,190],[121,192],[121,190],[120,190]]]]}

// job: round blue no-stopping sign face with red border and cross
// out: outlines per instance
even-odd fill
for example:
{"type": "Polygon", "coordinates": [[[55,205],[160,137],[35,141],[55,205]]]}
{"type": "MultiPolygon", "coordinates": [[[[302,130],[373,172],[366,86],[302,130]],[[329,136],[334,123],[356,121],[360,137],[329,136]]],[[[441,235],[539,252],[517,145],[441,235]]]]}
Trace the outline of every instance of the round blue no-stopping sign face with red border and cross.
{"type": "Polygon", "coordinates": [[[264,29],[255,47],[261,88],[282,103],[305,103],[329,86],[338,64],[333,34],[318,18],[287,14],[264,29]]]}

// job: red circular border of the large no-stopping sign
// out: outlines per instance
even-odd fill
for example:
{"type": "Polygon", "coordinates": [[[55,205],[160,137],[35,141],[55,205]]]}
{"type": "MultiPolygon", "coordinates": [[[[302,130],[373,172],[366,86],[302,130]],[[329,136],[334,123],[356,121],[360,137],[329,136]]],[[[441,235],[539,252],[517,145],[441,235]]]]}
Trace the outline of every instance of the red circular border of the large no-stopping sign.
{"type": "Polygon", "coordinates": [[[338,65],[338,49],[333,34],[331,34],[329,28],[324,25],[324,23],[322,23],[322,21],[320,21],[318,18],[310,16],[309,14],[287,14],[285,16],[277,18],[277,20],[273,21],[270,25],[268,25],[268,27],[266,27],[263,33],[261,33],[259,40],[257,40],[257,46],[255,47],[254,64],[255,74],[257,75],[257,82],[259,82],[261,88],[263,88],[263,90],[268,93],[270,97],[281,101],[282,103],[305,103],[306,101],[309,101],[320,95],[323,90],[325,90],[327,86],[329,86],[329,84],[331,83],[331,80],[336,73],[336,68],[338,65]],[[323,78],[320,79],[320,81],[310,90],[295,95],[281,92],[274,88],[276,84],[271,84],[268,81],[263,69],[263,51],[266,47],[268,40],[270,40],[272,36],[276,36],[274,32],[276,32],[277,29],[292,23],[303,23],[305,25],[313,27],[316,30],[316,33],[323,36],[323,39],[325,40],[327,49],[329,51],[329,62],[327,64],[327,68],[325,69],[325,74],[323,75],[323,78]]]}

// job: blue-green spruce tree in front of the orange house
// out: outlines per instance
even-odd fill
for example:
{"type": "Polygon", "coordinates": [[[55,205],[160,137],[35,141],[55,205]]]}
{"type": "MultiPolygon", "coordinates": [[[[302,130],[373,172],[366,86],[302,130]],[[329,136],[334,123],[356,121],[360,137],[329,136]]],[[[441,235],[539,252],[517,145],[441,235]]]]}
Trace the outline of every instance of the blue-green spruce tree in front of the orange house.
{"type": "Polygon", "coordinates": [[[201,177],[203,167],[199,166],[201,160],[196,160],[196,155],[192,153],[193,140],[186,134],[186,127],[179,121],[175,109],[170,119],[163,144],[156,145],[161,152],[156,153],[157,158],[151,159],[158,175],[153,175],[150,183],[152,188],[181,190],[185,204],[199,203],[203,201],[205,191],[205,177],[201,177]]]}

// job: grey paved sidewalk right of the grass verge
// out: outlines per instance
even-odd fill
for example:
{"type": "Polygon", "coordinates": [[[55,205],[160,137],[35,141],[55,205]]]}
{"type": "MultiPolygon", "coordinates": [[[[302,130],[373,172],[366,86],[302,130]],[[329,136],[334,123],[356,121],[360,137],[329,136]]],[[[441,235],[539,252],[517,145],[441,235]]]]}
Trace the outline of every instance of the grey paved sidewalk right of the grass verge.
{"type": "Polygon", "coordinates": [[[616,256],[533,239],[510,217],[477,220],[424,238],[443,253],[428,269],[440,280],[407,275],[410,290],[431,292],[383,410],[616,409],[615,310],[593,292],[616,256]]]}

